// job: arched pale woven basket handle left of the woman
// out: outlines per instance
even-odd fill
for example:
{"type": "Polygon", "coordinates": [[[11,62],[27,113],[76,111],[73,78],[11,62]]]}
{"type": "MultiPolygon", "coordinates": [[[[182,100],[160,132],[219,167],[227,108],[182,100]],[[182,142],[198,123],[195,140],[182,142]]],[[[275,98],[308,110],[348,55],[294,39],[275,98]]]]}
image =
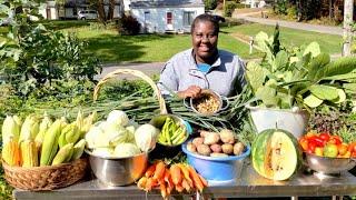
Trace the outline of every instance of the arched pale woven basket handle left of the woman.
{"type": "Polygon", "coordinates": [[[160,109],[160,113],[165,114],[168,113],[167,112],[167,107],[166,107],[166,102],[164,97],[161,96],[159,89],[157,88],[156,83],[152,81],[151,78],[149,78],[147,74],[145,74],[144,72],[139,71],[139,70],[131,70],[131,69],[118,69],[115,70],[108,74],[106,74],[96,86],[96,88],[93,89],[93,101],[96,101],[98,99],[98,94],[100,91],[100,88],[103,83],[106,83],[109,79],[115,78],[118,74],[131,74],[138,78],[141,78],[142,80],[145,80],[147,83],[149,83],[149,86],[154,89],[154,92],[157,97],[158,103],[159,103],[159,109],[160,109]]]}

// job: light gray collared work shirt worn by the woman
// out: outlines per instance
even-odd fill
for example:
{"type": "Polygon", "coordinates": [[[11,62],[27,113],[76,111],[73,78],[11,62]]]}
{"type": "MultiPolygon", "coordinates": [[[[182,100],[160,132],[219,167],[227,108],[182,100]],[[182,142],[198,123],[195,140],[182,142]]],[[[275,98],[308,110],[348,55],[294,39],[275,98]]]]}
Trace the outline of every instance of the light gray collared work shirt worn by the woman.
{"type": "Polygon", "coordinates": [[[236,94],[236,90],[246,83],[245,63],[231,52],[218,50],[218,59],[207,73],[197,68],[192,49],[174,56],[160,73],[158,87],[161,93],[169,94],[161,84],[174,92],[186,90],[195,84],[202,89],[211,89],[225,97],[236,94]]]}

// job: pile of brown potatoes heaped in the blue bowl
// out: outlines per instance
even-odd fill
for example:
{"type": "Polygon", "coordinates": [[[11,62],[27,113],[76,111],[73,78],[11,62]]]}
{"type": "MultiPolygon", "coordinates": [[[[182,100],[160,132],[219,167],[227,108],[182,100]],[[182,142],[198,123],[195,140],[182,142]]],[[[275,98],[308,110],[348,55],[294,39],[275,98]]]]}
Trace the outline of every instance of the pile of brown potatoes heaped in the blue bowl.
{"type": "Polygon", "coordinates": [[[187,150],[206,157],[239,156],[245,146],[239,142],[231,130],[220,132],[200,131],[200,137],[187,143],[187,150]]]}

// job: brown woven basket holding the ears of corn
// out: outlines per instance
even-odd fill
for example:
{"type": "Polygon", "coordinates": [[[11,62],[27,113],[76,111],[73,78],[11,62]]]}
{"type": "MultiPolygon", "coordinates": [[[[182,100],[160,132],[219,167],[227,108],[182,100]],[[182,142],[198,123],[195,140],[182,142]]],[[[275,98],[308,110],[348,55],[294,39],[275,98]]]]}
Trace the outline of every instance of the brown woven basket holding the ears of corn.
{"type": "Polygon", "coordinates": [[[85,177],[87,167],[87,158],[33,168],[10,167],[2,160],[7,182],[13,188],[31,191],[53,190],[73,184],[85,177]]]}

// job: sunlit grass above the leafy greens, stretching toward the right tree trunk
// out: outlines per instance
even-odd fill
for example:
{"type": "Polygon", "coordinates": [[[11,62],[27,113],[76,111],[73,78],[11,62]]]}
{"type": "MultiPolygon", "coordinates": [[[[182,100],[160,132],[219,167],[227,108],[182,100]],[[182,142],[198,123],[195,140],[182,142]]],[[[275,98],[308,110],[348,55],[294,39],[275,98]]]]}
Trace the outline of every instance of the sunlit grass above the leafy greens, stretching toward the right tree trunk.
{"type": "MultiPolygon", "coordinates": [[[[238,32],[246,36],[256,36],[259,31],[264,31],[269,36],[273,34],[274,26],[261,26],[258,23],[246,23],[231,28],[224,28],[226,32],[238,32]]],[[[326,53],[340,53],[342,41],[340,36],[325,34],[318,32],[303,31],[289,28],[280,28],[281,43],[287,47],[296,47],[301,44],[308,44],[313,41],[319,43],[323,52],[326,53]]]]}

